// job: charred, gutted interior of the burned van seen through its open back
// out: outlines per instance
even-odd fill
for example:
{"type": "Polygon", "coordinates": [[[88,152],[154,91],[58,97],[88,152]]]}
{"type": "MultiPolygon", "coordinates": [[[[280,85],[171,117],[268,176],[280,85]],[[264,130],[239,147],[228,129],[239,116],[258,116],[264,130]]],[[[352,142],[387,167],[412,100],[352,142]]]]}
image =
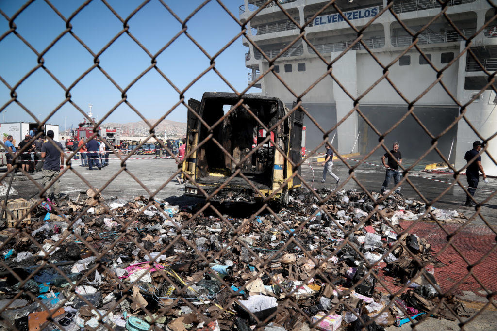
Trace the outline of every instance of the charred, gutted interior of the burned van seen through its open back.
{"type": "MultiPolygon", "coordinates": [[[[204,99],[202,118],[212,126],[219,122],[228,110],[238,102],[237,99],[213,98],[204,99]]],[[[242,173],[258,188],[267,188],[271,184],[274,162],[275,132],[265,132],[278,121],[278,102],[275,100],[244,100],[243,105],[233,109],[212,132],[213,139],[203,144],[197,153],[197,183],[211,185],[222,183],[230,177],[240,164],[242,173]],[[255,150],[247,158],[252,149],[270,135],[270,140],[255,150]],[[222,146],[229,154],[228,156],[222,146]]],[[[200,125],[198,143],[211,134],[204,125],[200,125]]],[[[241,177],[234,178],[230,185],[247,182],[241,177]]]]}

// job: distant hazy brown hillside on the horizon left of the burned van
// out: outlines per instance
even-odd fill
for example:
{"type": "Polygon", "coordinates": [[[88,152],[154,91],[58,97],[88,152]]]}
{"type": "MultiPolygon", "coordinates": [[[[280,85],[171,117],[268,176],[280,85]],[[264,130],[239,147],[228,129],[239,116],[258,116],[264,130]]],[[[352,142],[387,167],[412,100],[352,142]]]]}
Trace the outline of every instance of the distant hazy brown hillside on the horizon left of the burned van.
{"type": "MultiPolygon", "coordinates": [[[[151,125],[154,125],[158,120],[147,119],[147,121],[149,121],[151,125]]],[[[103,126],[107,128],[120,128],[122,131],[121,135],[146,136],[150,132],[150,127],[144,121],[130,123],[105,122],[103,126]]],[[[157,135],[163,135],[164,130],[167,131],[168,136],[180,136],[186,133],[186,123],[163,120],[155,128],[155,131],[157,135]]]]}

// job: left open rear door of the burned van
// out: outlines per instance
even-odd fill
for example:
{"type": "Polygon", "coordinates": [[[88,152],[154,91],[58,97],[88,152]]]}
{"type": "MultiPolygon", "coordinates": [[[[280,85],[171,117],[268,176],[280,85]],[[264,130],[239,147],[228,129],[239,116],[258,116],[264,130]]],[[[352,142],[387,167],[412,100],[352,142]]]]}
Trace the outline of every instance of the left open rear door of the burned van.
{"type": "MultiPolygon", "coordinates": [[[[190,106],[191,109],[198,115],[202,116],[200,114],[200,101],[195,100],[195,99],[189,99],[188,100],[188,106],[190,106]]],[[[200,120],[198,117],[196,117],[190,109],[187,111],[188,116],[187,116],[187,122],[186,122],[186,149],[185,149],[185,156],[190,152],[190,150],[193,150],[197,147],[198,143],[198,132],[200,129],[200,120]]],[[[197,151],[195,151],[190,157],[184,160],[183,162],[183,171],[187,173],[189,176],[192,176],[195,178],[195,169],[196,169],[196,163],[197,163],[197,151]]],[[[183,174],[181,174],[181,178],[183,178],[183,174]]]]}

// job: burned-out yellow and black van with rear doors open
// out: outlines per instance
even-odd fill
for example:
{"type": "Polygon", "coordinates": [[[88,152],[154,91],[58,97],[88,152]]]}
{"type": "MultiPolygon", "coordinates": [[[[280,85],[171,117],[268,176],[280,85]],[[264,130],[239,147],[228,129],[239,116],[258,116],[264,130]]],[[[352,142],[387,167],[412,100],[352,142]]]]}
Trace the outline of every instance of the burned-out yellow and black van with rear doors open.
{"type": "Polygon", "coordinates": [[[289,190],[301,185],[292,177],[300,167],[288,160],[301,161],[304,113],[298,108],[290,114],[277,98],[244,94],[242,100],[235,93],[205,92],[201,102],[188,101],[198,116],[188,111],[183,171],[193,182],[185,194],[254,202],[276,192],[272,199],[286,204],[289,190]]]}

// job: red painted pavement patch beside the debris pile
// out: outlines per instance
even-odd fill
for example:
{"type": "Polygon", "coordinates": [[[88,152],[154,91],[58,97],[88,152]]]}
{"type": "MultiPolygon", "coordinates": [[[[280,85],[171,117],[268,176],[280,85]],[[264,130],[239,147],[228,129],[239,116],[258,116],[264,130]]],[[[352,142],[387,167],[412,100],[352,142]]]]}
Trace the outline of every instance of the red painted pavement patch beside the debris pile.
{"type": "MultiPolygon", "coordinates": [[[[412,221],[402,221],[401,226],[407,228],[412,225],[412,221]]],[[[449,233],[455,232],[460,225],[444,224],[444,228],[449,233]]],[[[446,266],[435,268],[435,279],[443,291],[449,290],[454,284],[468,274],[468,264],[461,256],[452,248],[447,247],[442,251],[447,244],[447,234],[436,223],[417,222],[409,230],[409,233],[415,233],[420,238],[425,238],[429,244],[433,254],[446,266]]],[[[452,244],[459,250],[470,264],[477,263],[473,267],[473,274],[482,283],[487,290],[497,290],[497,251],[496,251],[496,234],[488,226],[472,226],[471,224],[461,229],[452,238],[452,244]],[[479,260],[489,251],[492,253],[484,260],[479,260]]],[[[385,266],[380,264],[381,268],[385,266]]],[[[400,289],[393,284],[393,278],[384,274],[383,270],[379,271],[380,279],[384,279],[390,292],[395,292],[400,289]]],[[[472,291],[477,295],[478,291],[484,290],[475,277],[469,276],[464,280],[457,289],[453,289],[452,293],[460,293],[461,291],[472,291]]],[[[378,284],[379,290],[382,290],[378,284]]]]}

